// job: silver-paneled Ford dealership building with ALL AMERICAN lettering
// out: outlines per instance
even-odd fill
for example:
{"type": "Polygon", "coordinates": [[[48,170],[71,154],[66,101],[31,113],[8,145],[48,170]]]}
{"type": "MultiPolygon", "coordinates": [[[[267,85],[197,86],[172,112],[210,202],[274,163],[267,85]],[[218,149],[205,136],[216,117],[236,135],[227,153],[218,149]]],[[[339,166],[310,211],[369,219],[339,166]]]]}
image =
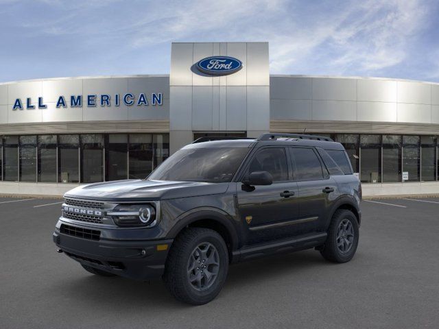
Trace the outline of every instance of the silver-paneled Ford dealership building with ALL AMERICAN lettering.
{"type": "Polygon", "coordinates": [[[270,75],[268,42],[173,43],[169,75],[0,83],[0,193],[145,178],[200,136],[264,132],[342,143],[364,195],[439,193],[439,84],[270,75]]]}

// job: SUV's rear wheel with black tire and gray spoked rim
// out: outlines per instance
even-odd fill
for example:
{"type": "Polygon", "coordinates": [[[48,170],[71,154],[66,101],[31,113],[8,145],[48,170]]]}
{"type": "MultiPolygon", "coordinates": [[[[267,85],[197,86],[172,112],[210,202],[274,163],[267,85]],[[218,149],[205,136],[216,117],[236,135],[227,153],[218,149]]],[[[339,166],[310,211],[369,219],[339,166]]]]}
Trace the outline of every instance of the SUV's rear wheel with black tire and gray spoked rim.
{"type": "Polygon", "coordinates": [[[320,254],[334,263],[346,263],[357,251],[359,230],[357,217],[350,210],[337,210],[329,225],[327,241],[320,254]]]}

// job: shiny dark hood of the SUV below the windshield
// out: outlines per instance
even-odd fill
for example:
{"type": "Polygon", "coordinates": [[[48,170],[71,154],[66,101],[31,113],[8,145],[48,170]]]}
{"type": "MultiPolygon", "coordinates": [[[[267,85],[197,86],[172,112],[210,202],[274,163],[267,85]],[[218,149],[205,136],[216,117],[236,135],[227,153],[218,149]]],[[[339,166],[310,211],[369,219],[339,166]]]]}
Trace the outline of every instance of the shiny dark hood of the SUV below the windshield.
{"type": "Polygon", "coordinates": [[[225,193],[228,183],[175,182],[165,180],[117,180],[78,186],[65,197],[102,201],[177,199],[225,193]]]}

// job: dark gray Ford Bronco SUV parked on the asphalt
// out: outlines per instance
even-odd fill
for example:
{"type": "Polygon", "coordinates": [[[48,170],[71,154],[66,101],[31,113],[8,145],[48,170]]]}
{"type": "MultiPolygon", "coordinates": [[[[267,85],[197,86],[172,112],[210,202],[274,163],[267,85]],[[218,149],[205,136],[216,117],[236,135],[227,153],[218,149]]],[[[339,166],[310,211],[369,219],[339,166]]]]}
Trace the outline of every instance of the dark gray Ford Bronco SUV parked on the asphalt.
{"type": "Polygon", "coordinates": [[[230,263],[309,248],[351,260],[360,200],[348,156],[330,138],[200,138],[145,180],[66,193],[54,242],[93,274],[163,277],[178,300],[205,304],[230,263]]]}

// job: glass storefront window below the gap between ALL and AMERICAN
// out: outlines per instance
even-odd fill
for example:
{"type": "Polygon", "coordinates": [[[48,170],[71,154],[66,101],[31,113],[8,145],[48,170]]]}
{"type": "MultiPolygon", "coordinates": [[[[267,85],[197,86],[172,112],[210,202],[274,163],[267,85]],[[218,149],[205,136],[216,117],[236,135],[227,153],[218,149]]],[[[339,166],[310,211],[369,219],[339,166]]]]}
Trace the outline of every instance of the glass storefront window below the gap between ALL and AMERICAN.
{"type": "Polygon", "coordinates": [[[56,135],[38,136],[38,182],[56,182],[56,135]]]}

